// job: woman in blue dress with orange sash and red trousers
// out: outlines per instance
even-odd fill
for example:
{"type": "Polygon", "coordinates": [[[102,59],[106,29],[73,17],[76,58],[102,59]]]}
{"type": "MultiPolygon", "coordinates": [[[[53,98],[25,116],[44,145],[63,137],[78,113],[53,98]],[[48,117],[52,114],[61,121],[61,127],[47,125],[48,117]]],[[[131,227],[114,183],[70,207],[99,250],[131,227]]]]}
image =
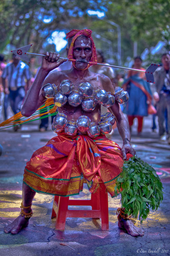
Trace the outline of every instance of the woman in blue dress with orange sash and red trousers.
{"type": "MultiPolygon", "coordinates": [[[[133,68],[145,70],[141,65],[141,57],[135,57],[133,68]]],[[[129,93],[129,101],[125,103],[123,112],[127,114],[130,130],[134,118],[138,119],[137,132],[139,135],[142,132],[143,117],[148,115],[148,104],[151,104],[152,101],[150,84],[146,81],[144,72],[130,70],[122,88],[129,93]]]]}

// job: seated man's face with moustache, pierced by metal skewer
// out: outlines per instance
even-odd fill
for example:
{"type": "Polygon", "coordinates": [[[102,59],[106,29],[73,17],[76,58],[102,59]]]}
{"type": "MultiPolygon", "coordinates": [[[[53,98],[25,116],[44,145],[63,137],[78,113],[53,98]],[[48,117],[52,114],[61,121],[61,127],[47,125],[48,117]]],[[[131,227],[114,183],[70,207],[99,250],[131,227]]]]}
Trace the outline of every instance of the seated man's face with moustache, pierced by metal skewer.
{"type": "Polygon", "coordinates": [[[73,58],[77,69],[85,69],[92,57],[91,41],[79,36],[74,42],[73,58]]]}

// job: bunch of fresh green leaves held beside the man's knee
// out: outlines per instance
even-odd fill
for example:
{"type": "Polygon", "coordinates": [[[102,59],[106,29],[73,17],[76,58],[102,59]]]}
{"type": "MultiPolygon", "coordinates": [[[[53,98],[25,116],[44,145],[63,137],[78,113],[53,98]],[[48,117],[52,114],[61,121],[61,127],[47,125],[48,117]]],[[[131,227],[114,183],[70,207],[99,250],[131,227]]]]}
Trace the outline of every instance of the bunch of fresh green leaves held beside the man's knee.
{"type": "Polygon", "coordinates": [[[156,171],[137,156],[125,161],[123,171],[117,179],[115,195],[121,193],[125,214],[138,217],[142,223],[149,209],[157,210],[163,200],[163,186],[156,171]],[[121,191],[121,189],[123,189],[121,191]]]}

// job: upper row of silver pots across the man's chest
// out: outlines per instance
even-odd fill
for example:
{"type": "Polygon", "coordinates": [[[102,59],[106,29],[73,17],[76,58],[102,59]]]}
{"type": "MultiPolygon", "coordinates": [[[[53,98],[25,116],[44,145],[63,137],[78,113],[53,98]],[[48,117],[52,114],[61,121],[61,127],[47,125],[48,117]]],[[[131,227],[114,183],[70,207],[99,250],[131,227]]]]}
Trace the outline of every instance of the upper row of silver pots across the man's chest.
{"type": "Polygon", "coordinates": [[[94,110],[96,104],[101,104],[104,107],[114,105],[115,99],[119,103],[127,101],[127,92],[122,95],[123,89],[118,88],[114,95],[102,89],[94,90],[93,86],[84,82],[81,83],[77,90],[74,90],[74,85],[70,80],[63,80],[59,86],[59,90],[55,84],[46,84],[42,88],[42,94],[46,98],[54,98],[54,103],[57,107],[64,106],[67,102],[74,107],[81,104],[84,111],[94,110]],[[119,99],[123,96],[123,99],[119,99]]]}

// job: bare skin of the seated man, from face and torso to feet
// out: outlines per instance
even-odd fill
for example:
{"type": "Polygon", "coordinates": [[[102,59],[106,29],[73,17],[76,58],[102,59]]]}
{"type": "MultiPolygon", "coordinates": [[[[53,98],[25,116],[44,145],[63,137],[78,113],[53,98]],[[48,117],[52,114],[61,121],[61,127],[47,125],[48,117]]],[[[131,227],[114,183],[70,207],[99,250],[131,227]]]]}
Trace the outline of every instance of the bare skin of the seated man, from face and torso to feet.
{"type": "MultiPolygon", "coordinates": [[[[75,89],[81,82],[90,82],[95,89],[104,89],[110,91],[114,94],[114,87],[108,77],[101,74],[95,74],[90,72],[87,68],[88,62],[92,57],[92,42],[89,37],[80,35],[74,42],[73,48],[73,58],[76,60],[75,67],[72,67],[71,70],[52,72],[48,77],[50,71],[59,67],[65,60],[59,59],[59,54],[56,53],[46,53],[46,57],[43,57],[41,68],[38,72],[38,75],[27,93],[26,99],[22,107],[22,114],[25,116],[30,116],[34,113],[37,108],[39,108],[46,99],[41,93],[41,88],[47,83],[55,83],[59,85],[62,80],[69,79],[74,83],[75,89]],[[46,78],[47,77],[47,78],[46,78]]],[[[68,120],[74,119],[77,120],[81,115],[87,115],[91,121],[98,122],[100,119],[100,105],[97,105],[92,112],[83,112],[81,106],[73,107],[69,104],[64,105],[63,107],[58,107],[58,111],[67,114],[68,120]]],[[[130,144],[130,132],[128,128],[128,123],[124,118],[122,111],[119,107],[119,104],[116,102],[111,108],[110,111],[115,115],[119,133],[123,139],[123,147],[120,151],[122,152],[121,158],[126,159],[126,154],[129,152],[132,155],[135,154],[133,148],[130,144]]],[[[59,137],[59,136],[58,136],[59,137]]],[[[58,138],[55,137],[55,138],[58,138]]],[[[53,138],[54,139],[54,138],[53,138]]],[[[31,204],[35,191],[31,189],[27,184],[23,183],[23,205],[24,205],[24,215],[31,213],[31,204]]],[[[5,227],[5,233],[11,232],[11,234],[17,234],[22,228],[28,226],[29,218],[25,216],[18,216],[11,224],[5,227]]],[[[124,220],[119,216],[118,226],[121,229],[126,230],[132,236],[143,236],[144,232],[141,228],[134,226],[132,221],[124,220]]]]}

